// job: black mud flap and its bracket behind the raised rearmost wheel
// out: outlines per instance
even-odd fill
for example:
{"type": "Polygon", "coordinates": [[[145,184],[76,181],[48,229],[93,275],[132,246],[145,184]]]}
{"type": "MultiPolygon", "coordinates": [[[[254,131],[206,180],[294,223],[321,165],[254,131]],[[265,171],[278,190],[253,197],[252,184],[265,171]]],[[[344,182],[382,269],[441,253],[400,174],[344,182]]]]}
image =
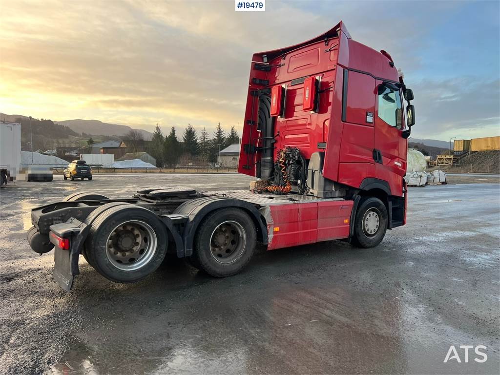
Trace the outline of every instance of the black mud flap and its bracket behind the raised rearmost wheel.
{"type": "Polygon", "coordinates": [[[66,291],[71,290],[74,277],[79,274],[78,257],[81,246],[90,227],[81,221],[70,218],[64,223],[50,225],[50,231],[55,235],[69,239],[69,249],[63,250],[50,236],[54,243],[54,270],[52,275],[59,285],[66,291]]]}

